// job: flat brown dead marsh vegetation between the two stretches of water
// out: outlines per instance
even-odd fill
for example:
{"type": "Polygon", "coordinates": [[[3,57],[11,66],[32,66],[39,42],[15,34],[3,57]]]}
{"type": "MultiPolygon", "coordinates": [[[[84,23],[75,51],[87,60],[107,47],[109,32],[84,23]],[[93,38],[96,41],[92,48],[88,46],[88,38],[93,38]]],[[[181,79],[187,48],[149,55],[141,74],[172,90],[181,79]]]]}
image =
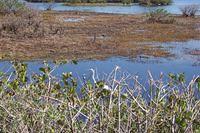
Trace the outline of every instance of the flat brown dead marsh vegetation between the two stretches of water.
{"type": "MultiPolygon", "coordinates": [[[[16,34],[9,30],[1,32],[0,57],[30,60],[102,59],[115,55],[135,57],[139,54],[169,56],[167,51],[149,45],[149,42],[184,41],[200,37],[200,31],[195,30],[200,22],[198,17],[174,18],[174,23],[148,23],[143,15],[41,12],[37,21],[42,27],[37,32],[34,32],[34,24],[30,29],[21,26],[23,30],[17,29],[16,34]],[[64,21],[82,17],[81,22],[64,21]]],[[[5,20],[0,18],[0,25],[5,24],[5,20]]]]}

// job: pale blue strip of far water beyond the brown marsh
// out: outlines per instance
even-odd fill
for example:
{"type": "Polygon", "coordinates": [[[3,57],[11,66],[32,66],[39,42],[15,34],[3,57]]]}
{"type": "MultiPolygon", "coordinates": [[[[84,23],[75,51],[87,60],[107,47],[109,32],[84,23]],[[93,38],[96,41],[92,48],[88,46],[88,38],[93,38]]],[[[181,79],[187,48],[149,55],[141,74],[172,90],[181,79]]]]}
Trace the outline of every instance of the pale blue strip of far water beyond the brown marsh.
{"type": "MultiPolygon", "coordinates": [[[[181,14],[180,8],[185,5],[200,5],[200,0],[173,0],[173,3],[162,7],[144,7],[138,4],[128,6],[63,6],[62,3],[54,4],[53,10],[57,11],[88,11],[100,13],[119,13],[119,14],[142,14],[156,8],[164,8],[172,14],[181,14]]],[[[27,3],[36,9],[44,10],[47,6],[44,3],[27,3]]],[[[200,14],[200,12],[198,13],[200,14]]]]}

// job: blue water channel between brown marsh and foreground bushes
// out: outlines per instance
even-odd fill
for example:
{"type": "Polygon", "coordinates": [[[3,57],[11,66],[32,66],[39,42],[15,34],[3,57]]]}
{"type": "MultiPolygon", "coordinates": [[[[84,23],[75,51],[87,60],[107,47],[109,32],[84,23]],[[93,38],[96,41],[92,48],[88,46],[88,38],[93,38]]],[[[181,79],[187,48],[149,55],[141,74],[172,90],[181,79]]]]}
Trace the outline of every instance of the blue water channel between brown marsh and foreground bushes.
{"type": "MultiPolygon", "coordinates": [[[[99,74],[100,79],[107,76],[115,66],[120,66],[120,73],[129,73],[138,75],[145,82],[147,72],[159,77],[162,72],[164,75],[169,73],[185,73],[186,79],[191,79],[193,76],[200,75],[200,55],[192,55],[192,51],[200,51],[200,41],[190,40],[187,42],[169,42],[169,43],[152,43],[149,45],[159,45],[163,49],[169,51],[172,56],[167,58],[149,57],[139,55],[137,58],[128,57],[111,57],[105,60],[82,60],[77,65],[64,64],[59,66],[54,75],[59,76],[63,72],[72,72],[74,76],[82,78],[85,75],[88,79],[91,78],[89,69],[93,68],[99,74]]],[[[39,68],[43,66],[42,61],[26,62],[29,66],[29,72],[39,72],[39,68]]],[[[53,63],[49,61],[53,67],[53,63]]],[[[0,62],[0,71],[7,71],[10,67],[10,62],[0,62]]]]}

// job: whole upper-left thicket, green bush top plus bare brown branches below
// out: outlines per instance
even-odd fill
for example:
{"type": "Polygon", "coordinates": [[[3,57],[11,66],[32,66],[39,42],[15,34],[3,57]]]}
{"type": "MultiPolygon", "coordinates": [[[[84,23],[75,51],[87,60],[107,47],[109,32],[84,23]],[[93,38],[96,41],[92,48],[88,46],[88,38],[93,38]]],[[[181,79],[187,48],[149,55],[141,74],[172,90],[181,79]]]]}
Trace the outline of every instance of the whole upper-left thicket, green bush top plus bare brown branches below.
{"type": "MultiPolygon", "coordinates": [[[[7,1],[1,1],[1,3],[7,5],[7,1]]],[[[40,11],[26,7],[18,0],[9,0],[8,3],[14,5],[0,9],[1,37],[32,38],[64,34],[64,27],[61,24],[45,23],[40,11]]]]}

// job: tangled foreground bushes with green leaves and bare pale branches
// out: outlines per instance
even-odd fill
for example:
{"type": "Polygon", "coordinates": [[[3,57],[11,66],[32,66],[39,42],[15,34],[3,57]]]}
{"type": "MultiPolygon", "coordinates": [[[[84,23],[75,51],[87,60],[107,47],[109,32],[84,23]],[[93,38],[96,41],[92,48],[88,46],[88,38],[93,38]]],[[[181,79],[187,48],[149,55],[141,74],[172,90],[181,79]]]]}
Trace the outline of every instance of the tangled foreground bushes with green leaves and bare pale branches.
{"type": "Polygon", "coordinates": [[[33,75],[26,64],[13,66],[0,75],[0,132],[200,131],[199,77],[186,85],[183,74],[163,82],[149,73],[144,87],[137,76],[117,78],[116,67],[106,81],[93,75],[93,84],[72,73],[56,78],[56,66],[33,75]]]}

